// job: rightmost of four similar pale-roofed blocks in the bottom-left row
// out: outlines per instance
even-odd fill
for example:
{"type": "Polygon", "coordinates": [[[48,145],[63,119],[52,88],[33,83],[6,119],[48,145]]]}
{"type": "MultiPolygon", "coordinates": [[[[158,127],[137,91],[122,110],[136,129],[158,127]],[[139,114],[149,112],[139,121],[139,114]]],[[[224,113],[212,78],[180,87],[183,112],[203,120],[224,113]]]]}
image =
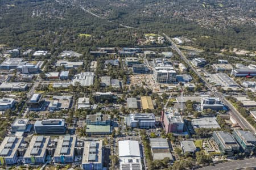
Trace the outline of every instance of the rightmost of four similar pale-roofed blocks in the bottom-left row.
{"type": "Polygon", "coordinates": [[[103,168],[103,141],[85,141],[82,154],[82,169],[102,170],[103,168]]]}

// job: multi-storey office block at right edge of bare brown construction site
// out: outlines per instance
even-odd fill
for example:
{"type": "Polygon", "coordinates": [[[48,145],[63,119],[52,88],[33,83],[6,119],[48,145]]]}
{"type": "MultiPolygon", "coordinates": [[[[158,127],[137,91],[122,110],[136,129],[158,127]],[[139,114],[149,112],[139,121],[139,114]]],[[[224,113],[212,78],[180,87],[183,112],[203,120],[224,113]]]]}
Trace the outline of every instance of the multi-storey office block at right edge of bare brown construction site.
{"type": "Polygon", "coordinates": [[[160,83],[176,82],[177,73],[175,70],[154,70],[154,79],[160,83]]]}

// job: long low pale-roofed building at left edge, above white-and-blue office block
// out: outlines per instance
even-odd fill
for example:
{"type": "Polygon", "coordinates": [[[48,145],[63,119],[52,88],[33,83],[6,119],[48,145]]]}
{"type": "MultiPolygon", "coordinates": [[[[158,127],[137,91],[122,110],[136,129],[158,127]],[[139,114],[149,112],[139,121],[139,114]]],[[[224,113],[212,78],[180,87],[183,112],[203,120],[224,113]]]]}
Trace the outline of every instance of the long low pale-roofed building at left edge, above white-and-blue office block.
{"type": "Polygon", "coordinates": [[[3,82],[0,85],[1,91],[26,91],[28,86],[26,83],[19,82],[3,82]]]}

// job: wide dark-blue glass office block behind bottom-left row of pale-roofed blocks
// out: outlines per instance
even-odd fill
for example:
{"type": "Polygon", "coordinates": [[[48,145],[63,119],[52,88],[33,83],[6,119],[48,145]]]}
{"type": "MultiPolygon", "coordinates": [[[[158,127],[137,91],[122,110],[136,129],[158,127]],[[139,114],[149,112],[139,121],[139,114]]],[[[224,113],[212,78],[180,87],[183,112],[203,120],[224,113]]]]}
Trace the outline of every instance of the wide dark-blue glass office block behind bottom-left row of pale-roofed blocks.
{"type": "Polygon", "coordinates": [[[66,132],[66,125],[62,119],[46,119],[36,121],[34,129],[37,134],[63,134],[66,132]]]}

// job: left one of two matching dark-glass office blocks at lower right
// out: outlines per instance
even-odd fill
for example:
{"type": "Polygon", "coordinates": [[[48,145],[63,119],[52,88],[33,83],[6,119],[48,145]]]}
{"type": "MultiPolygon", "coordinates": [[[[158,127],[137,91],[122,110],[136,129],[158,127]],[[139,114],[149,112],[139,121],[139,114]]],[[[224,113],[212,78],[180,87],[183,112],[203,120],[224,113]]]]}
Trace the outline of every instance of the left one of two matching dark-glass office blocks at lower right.
{"type": "Polygon", "coordinates": [[[239,152],[240,147],[229,132],[213,131],[213,140],[218,145],[222,154],[232,156],[239,152]]]}

